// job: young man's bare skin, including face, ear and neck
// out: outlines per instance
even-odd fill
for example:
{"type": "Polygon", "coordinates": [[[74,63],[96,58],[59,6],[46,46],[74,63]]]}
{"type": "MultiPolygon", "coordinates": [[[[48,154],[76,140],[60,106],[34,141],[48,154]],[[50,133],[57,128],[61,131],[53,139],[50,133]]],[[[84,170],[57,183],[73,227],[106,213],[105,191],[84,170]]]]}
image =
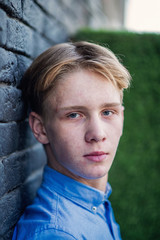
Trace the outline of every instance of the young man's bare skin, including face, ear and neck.
{"type": "Polygon", "coordinates": [[[48,165],[105,191],[123,129],[120,91],[103,76],[79,70],[59,82],[45,106],[47,118],[31,112],[29,123],[48,165]]]}

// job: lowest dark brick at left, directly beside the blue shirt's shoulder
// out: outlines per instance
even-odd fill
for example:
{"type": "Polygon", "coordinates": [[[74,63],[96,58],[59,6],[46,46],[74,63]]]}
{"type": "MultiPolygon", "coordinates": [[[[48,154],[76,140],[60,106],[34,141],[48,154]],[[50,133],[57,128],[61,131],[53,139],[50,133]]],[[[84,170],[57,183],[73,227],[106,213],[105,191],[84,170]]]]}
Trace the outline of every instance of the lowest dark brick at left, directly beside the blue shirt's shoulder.
{"type": "Polygon", "coordinates": [[[15,190],[6,193],[0,199],[0,239],[11,239],[13,227],[20,218],[24,208],[31,204],[35,198],[37,189],[42,181],[43,168],[34,172],[32,177],[16,188],[15,190]]]}

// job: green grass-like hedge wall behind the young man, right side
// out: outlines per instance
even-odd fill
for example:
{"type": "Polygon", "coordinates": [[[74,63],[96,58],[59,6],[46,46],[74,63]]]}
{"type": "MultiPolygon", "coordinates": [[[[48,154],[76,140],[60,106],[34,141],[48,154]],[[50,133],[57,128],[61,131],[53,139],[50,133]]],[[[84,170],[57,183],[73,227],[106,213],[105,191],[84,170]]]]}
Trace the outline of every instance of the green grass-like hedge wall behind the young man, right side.
{"type": "Polygon", "coordinates": [[[109,181],[124,240],[160,239],[160,35],[83,29],[73,37],[109,47],[132,75],[109,181]]]}

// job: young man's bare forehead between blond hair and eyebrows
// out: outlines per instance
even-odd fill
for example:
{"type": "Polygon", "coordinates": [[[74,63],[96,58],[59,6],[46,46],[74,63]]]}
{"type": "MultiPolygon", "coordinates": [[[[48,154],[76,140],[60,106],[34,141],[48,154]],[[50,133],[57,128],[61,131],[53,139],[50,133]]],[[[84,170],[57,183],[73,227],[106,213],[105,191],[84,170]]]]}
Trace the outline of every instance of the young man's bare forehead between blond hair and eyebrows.
{"type": "Polygon", "coordinates": [[[56,109],[70,105],[120,103],[120,91],[102,75],[79,70],[62,78],[46,102],[56,109]]]}

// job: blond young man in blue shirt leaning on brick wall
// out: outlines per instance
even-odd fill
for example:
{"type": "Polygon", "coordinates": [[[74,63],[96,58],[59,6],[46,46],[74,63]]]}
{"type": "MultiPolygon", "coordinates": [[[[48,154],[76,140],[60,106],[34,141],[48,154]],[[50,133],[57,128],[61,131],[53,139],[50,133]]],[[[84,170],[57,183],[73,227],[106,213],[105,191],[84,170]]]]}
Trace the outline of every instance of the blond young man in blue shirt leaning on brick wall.
{"type": "Polygon", "coordinates": [[[121,239],[107,181],[129,81],[110,50],[87,42],[56,45],[33,62],[23,89],[30,127],[48,162],[14,240],[121,239]]]}

